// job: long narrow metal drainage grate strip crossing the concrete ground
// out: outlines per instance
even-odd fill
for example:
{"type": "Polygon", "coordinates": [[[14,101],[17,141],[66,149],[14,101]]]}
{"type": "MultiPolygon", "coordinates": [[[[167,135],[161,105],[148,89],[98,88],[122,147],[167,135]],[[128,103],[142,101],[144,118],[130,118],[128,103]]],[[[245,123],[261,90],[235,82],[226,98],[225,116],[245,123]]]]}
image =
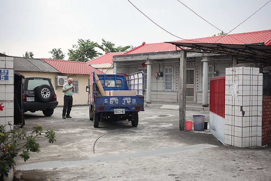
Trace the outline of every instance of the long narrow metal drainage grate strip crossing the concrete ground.
{"type": "Polygon", "coordinates": [[[20,166],[17,165],[16,169],[17,170],[34,170],[34,169],[45,169],[45,168],[55,168],[55,167],[69,167],[69,166],[84,165],[84,164],[94,164],[94,163],[99,163],[99,162],[151,157],[151,156],[157,156],[161,154],[171,154],[171,153],[178,153],[182,151],[191,151],[191,150],[214,148],[214,147],[217,147],[217,146],[212,145],[212,144],[195,144],[195,145],[182,146],[182,147],[176,147],[176,148],[164,148],[164,149],[158,149],[158,150],[139,151],[139,152],[125,153],[125,154],[111,154],[111,155],[96,156],[96,157],[90,157],[89,159],[86,159],[86,160],[79,160],[79,161],[38,162],[38,163],[31,163],[31,164],[25,164],[25,165],[20,165],[20,166]]]}

